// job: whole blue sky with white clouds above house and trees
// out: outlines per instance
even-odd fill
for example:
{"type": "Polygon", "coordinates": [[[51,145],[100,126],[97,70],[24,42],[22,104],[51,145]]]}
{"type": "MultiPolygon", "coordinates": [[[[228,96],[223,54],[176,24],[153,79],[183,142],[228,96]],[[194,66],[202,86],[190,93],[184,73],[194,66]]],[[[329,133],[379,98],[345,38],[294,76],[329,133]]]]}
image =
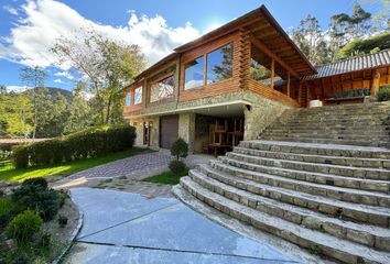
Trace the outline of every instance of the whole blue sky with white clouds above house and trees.
{"type": "MultiPolygon", "coordinates": [[[[46,86],[72,89],[77,77],[54,67],[48,48],[57,36],[84,23],[112,38],[138,44],[150,64],[172,48],[238,18],[262,3],[284,30],[312,14],[323,28],[335,13],[350,13],[353,0],[0,0],[0,84],[23,86],[20,68],[39,65],[48,70],[46,86]]],[[[378,1],[362,2],[377,13],[378,1]]]]}

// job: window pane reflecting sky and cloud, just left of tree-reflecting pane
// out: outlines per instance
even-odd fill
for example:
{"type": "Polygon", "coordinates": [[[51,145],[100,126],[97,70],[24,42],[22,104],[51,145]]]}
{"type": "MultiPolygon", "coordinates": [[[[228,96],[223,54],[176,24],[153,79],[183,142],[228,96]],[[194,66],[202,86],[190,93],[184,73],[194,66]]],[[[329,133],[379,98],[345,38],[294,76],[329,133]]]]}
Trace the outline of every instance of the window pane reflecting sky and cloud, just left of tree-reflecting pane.
{"type": "Polygon", "coordinates": [[[185,82],[184,89],[192,89],[203,86],[204,79],[204,57],[195,58],[194,61],[185,64],[185,82]]]}

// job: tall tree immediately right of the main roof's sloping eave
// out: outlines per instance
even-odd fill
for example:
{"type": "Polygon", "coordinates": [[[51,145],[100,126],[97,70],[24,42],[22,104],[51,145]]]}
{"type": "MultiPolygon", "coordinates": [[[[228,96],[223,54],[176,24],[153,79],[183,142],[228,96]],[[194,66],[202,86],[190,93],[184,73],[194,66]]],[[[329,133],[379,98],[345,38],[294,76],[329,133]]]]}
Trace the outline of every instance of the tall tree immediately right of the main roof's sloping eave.
{"type": "Polygon", "coordinates": [[[292,38],[314,64],[323,64],[329,61],[328,48],[318,20],[307,15],[301,20],[300,25],[292,31],[292,38]]]}

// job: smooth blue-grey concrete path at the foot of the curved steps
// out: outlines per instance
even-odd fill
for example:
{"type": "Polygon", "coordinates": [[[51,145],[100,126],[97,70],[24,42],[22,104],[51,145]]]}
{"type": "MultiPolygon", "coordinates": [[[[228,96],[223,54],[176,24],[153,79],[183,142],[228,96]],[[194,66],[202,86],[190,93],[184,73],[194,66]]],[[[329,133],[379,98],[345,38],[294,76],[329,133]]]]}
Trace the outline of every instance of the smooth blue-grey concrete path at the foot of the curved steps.
{"type": "Polygon", "coordinates": [[[299,263],[174,198],[90,188],[74,188],[72,197],[85,219],[67,264],[299,263]]]}

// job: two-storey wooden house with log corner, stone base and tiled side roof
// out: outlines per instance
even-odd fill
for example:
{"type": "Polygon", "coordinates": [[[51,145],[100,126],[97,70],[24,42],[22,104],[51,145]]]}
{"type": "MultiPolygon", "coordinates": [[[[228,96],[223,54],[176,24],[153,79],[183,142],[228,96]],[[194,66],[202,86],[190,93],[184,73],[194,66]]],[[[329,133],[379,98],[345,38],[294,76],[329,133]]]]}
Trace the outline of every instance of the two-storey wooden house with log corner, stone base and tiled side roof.
{"type": "MultiPolygon", "coordinates": [[[[219,153],[256,139],[289,108],[389,84],[390,52],[314,67],[264,6],[174,50],[124,89],[137,144],[219,153]]],[[[338,98],[338,99],[337,99],[338,98]]],[[[344,98],[345,99],[345,98],[344,98]]]]}

